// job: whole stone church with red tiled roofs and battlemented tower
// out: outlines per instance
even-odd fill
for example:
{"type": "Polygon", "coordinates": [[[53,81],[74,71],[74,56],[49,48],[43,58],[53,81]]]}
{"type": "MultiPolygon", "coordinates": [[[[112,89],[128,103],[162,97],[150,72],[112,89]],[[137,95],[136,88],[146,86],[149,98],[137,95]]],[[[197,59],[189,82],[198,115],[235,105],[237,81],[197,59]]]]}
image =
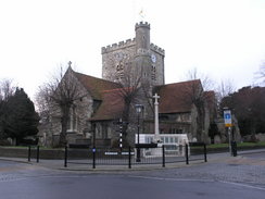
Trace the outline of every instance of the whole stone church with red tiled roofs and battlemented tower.
{"type": "MultiPolygon", "coordinates": [[[[65,73],[86,94],[71,109],[68,144],[117,147],[122,133],[124,146],[134,146],[138,130],[154,134],[155,94],[160,134],[187,134],[190,140],[209,141],[214,92],[205,92],[200,79],[165,84],[165,51],[150,41],[149,23],[137,23],[135,38],[102,47],[101,53],[102,78],[77,73],[71,65],[65,73]]],[[[60,113],[51,114],[43,126],[47,145],[55,145],[60,113]]]]}

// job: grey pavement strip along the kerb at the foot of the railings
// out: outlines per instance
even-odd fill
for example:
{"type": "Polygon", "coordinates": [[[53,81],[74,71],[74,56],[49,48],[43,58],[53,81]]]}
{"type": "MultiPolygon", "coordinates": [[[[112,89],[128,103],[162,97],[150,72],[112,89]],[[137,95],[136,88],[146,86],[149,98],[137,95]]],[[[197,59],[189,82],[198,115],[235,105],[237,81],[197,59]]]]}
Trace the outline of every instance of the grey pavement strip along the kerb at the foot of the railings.
{"type": "MultiPolygon", "coordinates": [[[[226,163],[229,165],[257,165],[265,166],[265,158],[253,159],[252,154],[265,154],[265,149],[256,150],[247,150],[238,152],[237,157],[229,156],[228,152],[223,153],[210,153],[207,154],[207,163],[226,163]]],[[[131,169],[128,169],[128,165],[97,165],[96,169],[92,169],[92,164],[72,164],[68,163],[67,167],[64,166],[64,160],[43,160],[40,159],[39,162],[36,162],[36,159],[31,159],[28,162],[25,158],[4,158],[0,157],[0,160],[4,161],[14,161],[18,163],[31,164],[39,167],[46,167],[50,170],[64,170],[64,171],[94,171],[94,172],[121,172],[121,171],[150,171],[150,170],[166,170],[166,169],[177,169],[186,166],[195,166],[199,164],[206,164],[203,160],[190,161],[190,164],[187,165],[186,162],[177,163],[166,163],[165,167],[162,167],[161,164],[132,164],[131,169]]]]}

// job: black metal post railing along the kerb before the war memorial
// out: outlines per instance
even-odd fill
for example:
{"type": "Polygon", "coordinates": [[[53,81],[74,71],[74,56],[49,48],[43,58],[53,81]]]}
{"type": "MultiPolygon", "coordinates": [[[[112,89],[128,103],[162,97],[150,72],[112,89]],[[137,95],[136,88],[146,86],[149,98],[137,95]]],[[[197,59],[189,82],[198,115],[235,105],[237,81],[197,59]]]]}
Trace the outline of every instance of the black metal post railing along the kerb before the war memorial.
{"type": "Polygon", "coordinates": [[[64,166],[68,164],[87,164],[96,169],[98,165],[127,165],[131,169],[134,165],[157,164],[165,167],[166,164],[204,160],[207,161],[205,144],[189,144],[184,146],[184,156],[174,156],[167,153],[165,146],[156,148],[140,148],[140,159],[137,158],[137,148],[126,149],[68,149],[65,147],[64,166]],[[153,150],[152,156],[143,156],[147,150],[153,150]]]}

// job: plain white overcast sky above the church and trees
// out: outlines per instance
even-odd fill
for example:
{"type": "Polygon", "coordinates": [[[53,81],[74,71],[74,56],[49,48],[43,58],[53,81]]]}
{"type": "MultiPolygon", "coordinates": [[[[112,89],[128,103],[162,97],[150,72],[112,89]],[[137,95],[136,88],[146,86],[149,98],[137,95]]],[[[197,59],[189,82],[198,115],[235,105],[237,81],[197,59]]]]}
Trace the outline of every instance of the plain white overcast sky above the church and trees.
{"type": "Polygon", "coordinates": [[[165,49],[166,83],[197,67],[241,88],[265,61],[265,0],[0,0],[0,79],[34,98],[70,60],[101,77],[101,47],[134,38],[141,20],[165,49]]]}

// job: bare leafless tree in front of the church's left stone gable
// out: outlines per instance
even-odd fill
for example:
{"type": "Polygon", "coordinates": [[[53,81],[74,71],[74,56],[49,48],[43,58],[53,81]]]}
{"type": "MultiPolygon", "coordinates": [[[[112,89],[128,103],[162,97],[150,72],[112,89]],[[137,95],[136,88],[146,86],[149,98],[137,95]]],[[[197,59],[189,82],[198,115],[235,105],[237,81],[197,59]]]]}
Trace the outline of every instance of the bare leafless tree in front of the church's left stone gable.
{"type": "Polygon", "coordinates": [[[42,111],[42,114],[49,116],[51,112],[58,112],[61,119],[62,130],[60,133],[60,146],[65,146],[67,124],[70,122],[71,109],[75,104],[75,101],[80,100],[87,94],[84,94],[79,89],[79,82],[74,76],[68,63],[68,69],[64,73],[61,67],[58,75],[53,79],[42,87],[40,87],[37,102],[38,109],[42,111]]]}

